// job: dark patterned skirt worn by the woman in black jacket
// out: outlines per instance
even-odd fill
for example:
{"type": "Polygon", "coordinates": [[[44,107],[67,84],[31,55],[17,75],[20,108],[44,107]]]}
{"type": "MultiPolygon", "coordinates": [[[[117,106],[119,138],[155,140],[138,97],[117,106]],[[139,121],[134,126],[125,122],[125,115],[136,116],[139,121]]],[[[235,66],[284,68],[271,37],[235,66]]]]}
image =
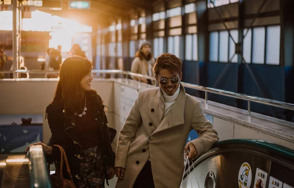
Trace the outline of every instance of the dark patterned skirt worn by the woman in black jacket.
{"type": "Polygon", "coordinates": [[[79,188],[104,188],[104,167],[101,148],[98,146],[82,150],[79,188]]]}

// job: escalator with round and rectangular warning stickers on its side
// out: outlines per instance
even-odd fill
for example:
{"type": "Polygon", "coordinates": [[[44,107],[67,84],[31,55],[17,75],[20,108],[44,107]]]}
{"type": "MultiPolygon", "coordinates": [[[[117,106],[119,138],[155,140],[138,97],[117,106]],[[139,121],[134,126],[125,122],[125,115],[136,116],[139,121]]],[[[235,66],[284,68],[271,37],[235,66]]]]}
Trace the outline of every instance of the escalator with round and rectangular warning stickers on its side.
{"type": "Polygon", "coordinates": [[[294,150],[266,141],[217,142],[188,169],[182,188],[294,188],[294,150]]]}

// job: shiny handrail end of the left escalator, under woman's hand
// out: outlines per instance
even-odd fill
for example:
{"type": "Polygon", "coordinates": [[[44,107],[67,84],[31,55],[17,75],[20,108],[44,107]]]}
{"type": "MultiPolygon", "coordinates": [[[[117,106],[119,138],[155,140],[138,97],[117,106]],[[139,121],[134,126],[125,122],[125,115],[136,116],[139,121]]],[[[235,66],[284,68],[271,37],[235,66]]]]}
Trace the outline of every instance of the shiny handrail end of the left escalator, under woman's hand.
{"type": "Polygon", "coordinates": [[[51,188],[49,170],[42,146],[30,146],[27,155],[30,160],[31,188],[51,188]]]}

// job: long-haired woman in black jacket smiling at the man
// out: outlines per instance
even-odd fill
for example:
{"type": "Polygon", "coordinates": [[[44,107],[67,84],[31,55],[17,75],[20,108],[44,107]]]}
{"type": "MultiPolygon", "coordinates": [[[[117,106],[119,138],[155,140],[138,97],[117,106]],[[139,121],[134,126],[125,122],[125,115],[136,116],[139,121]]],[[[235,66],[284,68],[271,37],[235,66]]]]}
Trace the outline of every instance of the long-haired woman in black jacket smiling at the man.
{"type": "Polygon", "coordinates": [[[103,101],[91,89],[91,63],[82,57],[69,57],[59,76],[54,99],[46,109],[51,130],[49,145],[34,144],[42,145],[48,163],[60,161],[60,150],[54,144],[64,148],[77,188],[104,188],[104,179],[115,174],[115,156],[103,101]]]}

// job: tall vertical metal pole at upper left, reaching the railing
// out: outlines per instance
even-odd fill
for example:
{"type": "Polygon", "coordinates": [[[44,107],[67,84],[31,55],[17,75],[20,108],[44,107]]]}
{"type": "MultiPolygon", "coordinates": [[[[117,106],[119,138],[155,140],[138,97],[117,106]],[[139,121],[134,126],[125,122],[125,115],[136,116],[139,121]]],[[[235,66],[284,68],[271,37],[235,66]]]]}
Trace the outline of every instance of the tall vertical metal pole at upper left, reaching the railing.
{"type": "MultiPolygon", "coordinates": [[[[12,1],[12,51],[13,51],[13,70],[18,70],[17,59],[17,0],[12,1]]],[[[18,78],[18,73],[14,73],[13,78],[18,78]]]]}

